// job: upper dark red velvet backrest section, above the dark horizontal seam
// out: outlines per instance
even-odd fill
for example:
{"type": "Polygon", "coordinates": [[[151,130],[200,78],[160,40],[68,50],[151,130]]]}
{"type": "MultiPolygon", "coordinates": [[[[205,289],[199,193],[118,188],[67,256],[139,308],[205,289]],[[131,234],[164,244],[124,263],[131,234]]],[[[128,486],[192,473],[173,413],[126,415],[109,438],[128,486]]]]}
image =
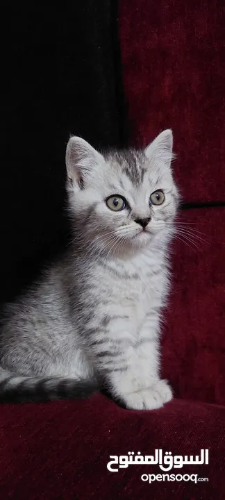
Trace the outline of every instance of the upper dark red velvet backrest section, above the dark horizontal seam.
{"type": "Polygon", "coordinates": [[[135,144],[172,128],[186,201],[225,197],[224,3],[121,0],[124,87],[135,144]]]}

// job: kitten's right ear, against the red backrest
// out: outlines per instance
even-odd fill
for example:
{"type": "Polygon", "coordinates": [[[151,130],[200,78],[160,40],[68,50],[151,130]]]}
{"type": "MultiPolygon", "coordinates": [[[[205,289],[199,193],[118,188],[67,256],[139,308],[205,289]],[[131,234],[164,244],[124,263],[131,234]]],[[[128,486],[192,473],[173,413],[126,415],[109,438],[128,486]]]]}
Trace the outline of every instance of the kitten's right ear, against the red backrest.
{"type": "Polygon", "coordinates": [[[170,167],[174,158],[172,130],[161,132],[144,152],[149,160],[170,167]]]}

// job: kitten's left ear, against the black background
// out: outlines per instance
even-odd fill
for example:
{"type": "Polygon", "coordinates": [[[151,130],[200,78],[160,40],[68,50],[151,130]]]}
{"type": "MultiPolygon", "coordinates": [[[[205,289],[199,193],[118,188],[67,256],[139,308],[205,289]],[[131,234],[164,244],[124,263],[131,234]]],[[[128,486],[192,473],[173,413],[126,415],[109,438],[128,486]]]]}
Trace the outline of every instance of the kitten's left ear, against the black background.
{"type": "Polygon", "coordinates": [[[79,137],[69,139],[66,151],[67,177],[70,183],[81,188],[87,178],[103,157],[88,142],[79,137]]]}

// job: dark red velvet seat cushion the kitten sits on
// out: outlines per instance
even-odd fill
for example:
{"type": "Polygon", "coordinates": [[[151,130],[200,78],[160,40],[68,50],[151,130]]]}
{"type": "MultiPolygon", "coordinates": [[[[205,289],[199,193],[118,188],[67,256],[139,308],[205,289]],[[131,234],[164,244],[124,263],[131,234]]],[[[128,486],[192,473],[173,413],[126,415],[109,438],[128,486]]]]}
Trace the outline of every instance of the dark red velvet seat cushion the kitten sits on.
{"type": "MultiPolygon", "coordinates": [[[[155,411],[119,408],[101,394],[85,401],[1,406],[2,499],[224,499],[225,408],[174,399],[155,411]],[[165,474],[158,465],[109,472],[110,455],[198,455],[209,465],[184,465],[170,474],[197,474],[208,482],[142,481],[165,474]],[[144,476],[146,478],[146,476],[144,476]]],[[[186,476],[187,477],[187,476],[186,476]]]]}

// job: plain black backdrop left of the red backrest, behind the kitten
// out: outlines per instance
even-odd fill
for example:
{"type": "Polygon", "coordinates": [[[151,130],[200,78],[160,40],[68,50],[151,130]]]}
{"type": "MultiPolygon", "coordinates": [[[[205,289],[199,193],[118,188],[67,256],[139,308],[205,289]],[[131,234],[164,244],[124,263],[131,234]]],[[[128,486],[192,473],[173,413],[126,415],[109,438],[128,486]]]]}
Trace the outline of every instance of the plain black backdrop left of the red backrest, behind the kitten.
{"type": "Polygon", "coordinates": [[[85,0],[8,6],[0,167],[0,302],[64,247],[69,134],[122,145],[117,6],[85,0]]]}

